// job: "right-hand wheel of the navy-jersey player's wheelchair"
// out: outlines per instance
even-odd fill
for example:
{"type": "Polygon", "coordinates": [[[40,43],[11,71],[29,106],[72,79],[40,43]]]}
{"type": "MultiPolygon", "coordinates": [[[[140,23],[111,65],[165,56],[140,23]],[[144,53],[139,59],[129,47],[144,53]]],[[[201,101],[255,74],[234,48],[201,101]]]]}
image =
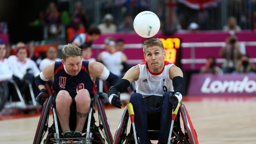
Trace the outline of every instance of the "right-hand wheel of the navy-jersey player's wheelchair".
{"type": "Polygon", "coordinates": [[[99,123],[101,125],[101,122],[102,122],[102,125],[104,128],[103,135],[106,138],[108,144],[113,144],[113,137],[110,131],[110,124],[108,122],[103,103],[97,94],[95,94],[95,102],[97,104],[98,113],[99,113],[99,123]]]}

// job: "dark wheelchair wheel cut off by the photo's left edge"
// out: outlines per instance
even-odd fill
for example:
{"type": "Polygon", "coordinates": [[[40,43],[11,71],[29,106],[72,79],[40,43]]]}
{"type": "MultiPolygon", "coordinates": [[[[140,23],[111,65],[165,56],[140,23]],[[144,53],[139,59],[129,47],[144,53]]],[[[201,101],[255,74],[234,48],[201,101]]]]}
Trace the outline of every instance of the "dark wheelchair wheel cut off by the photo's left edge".
{"type": "Polygon", "coordinates": [[[9,88],[6,82],[0,83],[0,111],[4,107],[4,104],[9,95],[9,88]]]}

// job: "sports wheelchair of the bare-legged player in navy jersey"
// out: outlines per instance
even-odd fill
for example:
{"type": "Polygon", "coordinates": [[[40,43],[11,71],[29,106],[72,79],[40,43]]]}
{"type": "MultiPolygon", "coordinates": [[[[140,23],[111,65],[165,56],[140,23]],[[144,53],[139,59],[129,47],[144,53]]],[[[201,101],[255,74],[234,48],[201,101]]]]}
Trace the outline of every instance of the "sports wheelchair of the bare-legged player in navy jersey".
{"type": "MultiPolygon", "coordinates": [[[[50,94],[49,90],[48,92],[50,94]]],[[[45,100],[43,105],[33,144],[40,144],[42,141],[44,144],[105,144],[105,139],[108,144],[113,144],[110,125],[106,117],[103,102],[100,98],[103,95],[107,96],[106,93],[97,92],[94,97],[91,98],[91,107],[89,109],[89,114],[83,128],[82,138],[66,139],[62,134],[61,126],[56,115],[56,110],[55,108],[51,107],[51,101],[53,98],[51,94],[51,96],[45,100]],[[98,126],[95,124],[95,118],[93,116],[95,113],[94,102],[98,108],[98,126]],[[54,122],[49,127],[48,122],[49,114],[51,113],[50,108],[52,109],[54,122]],[[101,133],[105,139],[102,137],[101,133]],[[44,139],[45,135],[46,138],[44,139]]],[[[70,129],[71,132],[74,132],[75,124],[72,123],[72,121],[76,122],[76,115],[70,111],[70,129]]]]}

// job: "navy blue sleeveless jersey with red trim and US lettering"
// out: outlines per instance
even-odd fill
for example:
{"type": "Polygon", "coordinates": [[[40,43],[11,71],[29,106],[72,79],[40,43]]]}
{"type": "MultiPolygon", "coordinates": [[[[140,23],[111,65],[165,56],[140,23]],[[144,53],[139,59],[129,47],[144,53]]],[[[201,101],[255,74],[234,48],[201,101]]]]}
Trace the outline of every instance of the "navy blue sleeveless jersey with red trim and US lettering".
{"type": "Polygon", "coordinates": [[[89,61],[82,61],[80,72],[76,76],[72,76],[66,72],[61,61],[55,62],[53,92],[66,90],[70,94],[77,94],[80,89],[87,89],[90,96],[93,96],[97,90],[89,75],[88,64],[89,61]]]}

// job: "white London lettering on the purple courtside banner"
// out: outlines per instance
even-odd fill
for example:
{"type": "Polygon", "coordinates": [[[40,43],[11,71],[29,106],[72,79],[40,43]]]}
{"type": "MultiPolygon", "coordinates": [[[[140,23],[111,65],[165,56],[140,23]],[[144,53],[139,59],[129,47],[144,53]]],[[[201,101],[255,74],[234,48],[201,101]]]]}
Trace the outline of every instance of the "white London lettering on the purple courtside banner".
{"type": "Polygon", "coordinates": [[[242,81],[219,81],[215,80],[211,82],[211,78],[207,77],[201,87],[202,93],[224,93],[227,90],[228,93],[241,93],[243,91],[247,93],[256,92],[256,82],[249,80],[248,76],[245,76],[242,81]]]}

